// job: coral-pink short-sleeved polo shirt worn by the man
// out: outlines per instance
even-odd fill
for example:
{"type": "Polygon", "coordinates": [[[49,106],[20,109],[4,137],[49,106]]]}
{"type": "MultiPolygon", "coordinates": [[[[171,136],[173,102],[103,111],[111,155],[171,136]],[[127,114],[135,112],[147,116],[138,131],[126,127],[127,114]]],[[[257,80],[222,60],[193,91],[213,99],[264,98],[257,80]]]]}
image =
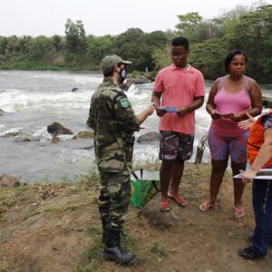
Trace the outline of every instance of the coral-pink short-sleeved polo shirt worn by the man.
{"type": "MultiPolygon", "coordinates": [[[[171,64],[157,74],[154,92],[162,92],[161,106],[183,108],[195,97],[205,95],[204,78],[199,70],[190,65],[183,70],[171,64]]],[[[160,117],[159,130],[194,134],[195,112],[183,117],[177,113],[165,113],[160,117]]]]}

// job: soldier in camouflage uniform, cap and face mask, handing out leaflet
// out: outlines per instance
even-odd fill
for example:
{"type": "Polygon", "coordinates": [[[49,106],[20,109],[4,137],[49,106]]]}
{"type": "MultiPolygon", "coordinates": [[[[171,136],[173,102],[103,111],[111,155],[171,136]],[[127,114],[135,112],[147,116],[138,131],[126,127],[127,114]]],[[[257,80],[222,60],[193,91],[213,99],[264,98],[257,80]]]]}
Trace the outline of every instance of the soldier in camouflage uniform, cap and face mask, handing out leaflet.
{"type": "Polygon", "coordinates": [[[104,257],[128,263],[131,253],[120,247],[124,215],[131,199],[131,160],[133,132],[154,111],[149,106],[136,116],[125,93],[119,88],[126,77],[127,65],[113,54],[102,59],[103,83],[92,95],[88,125],[94,131],[95,159],[102,189],[99,212],[102,219],[104,257]]]}

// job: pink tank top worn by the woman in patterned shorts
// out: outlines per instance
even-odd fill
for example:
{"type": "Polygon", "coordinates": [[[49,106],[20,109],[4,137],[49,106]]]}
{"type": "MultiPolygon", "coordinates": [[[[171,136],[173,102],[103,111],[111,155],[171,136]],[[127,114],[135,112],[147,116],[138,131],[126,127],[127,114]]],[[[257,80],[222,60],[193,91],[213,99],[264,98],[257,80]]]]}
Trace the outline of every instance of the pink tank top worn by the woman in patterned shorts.
{"type": "MultiPolygon", "coordinates": [[[[219,91],[214,98],[216,110],[221,114],[248,111],[251,106],[250,96],[247,91],[249,82],[248,77],[245,76],[243,90],[235,93],[228,92],[228,90],[224,88],[225,78],[226,77],[222,77],[219,81],[219,91]]],[[[212,120],[210,129],[216,131],[220,136],[227,137],[237,137],[245,132],[238,128],[237,121],[228,119],[212,120]]]]}

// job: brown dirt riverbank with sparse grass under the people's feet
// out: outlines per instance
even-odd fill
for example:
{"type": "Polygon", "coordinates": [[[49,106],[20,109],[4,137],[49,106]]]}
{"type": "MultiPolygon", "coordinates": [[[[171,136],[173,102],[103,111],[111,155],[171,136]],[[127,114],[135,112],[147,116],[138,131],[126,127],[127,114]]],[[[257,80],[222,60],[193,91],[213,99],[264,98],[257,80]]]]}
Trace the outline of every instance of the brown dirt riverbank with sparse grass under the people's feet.
{"type": "Polygon", "coordinates": [[[271,271],[271,251],[257,261],[237,254],[248,246],[254,227],[251,186],[244,193],[244,218],[233,215],[229,174],[216,207],[207,213],[199,210],[208,196],[209,170],[204,164],[186,165],[180,190],[188,206],[171,203],[170,216],[177,224],[169,229],[154,227],[139,209],[130,208],[123,240],[136,256],[130,266],[102,259],[97,184],[1,189],[0,271],[271,271]]]}

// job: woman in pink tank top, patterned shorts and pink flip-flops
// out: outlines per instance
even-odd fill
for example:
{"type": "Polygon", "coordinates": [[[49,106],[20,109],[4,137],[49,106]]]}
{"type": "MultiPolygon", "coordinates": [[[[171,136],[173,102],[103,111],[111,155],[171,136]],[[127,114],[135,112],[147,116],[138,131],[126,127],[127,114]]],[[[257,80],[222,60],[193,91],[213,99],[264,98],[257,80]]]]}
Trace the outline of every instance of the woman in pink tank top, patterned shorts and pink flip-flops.
{"type": "MultiPolygon", "coordinates": [[[[209,200],[200,204],[202,211],[208,211],[216,204],[228,157],[233,176],[247,167],[248,131],[239,129],[238,121],[248,119],[247,112],[252,116],[260,114],[262,99],[256,81],[244,75],[246,67],[246,53],[240,50],[228,53],[224,61],[227,75],[217,79],[209,91],[206,110],[212,118],[208,134],[212,170],[209,200]]],[[[234,212],[237,217],[243,217],[244,185],[237,179],[233,180],[233,185],[234,212]]]]}

